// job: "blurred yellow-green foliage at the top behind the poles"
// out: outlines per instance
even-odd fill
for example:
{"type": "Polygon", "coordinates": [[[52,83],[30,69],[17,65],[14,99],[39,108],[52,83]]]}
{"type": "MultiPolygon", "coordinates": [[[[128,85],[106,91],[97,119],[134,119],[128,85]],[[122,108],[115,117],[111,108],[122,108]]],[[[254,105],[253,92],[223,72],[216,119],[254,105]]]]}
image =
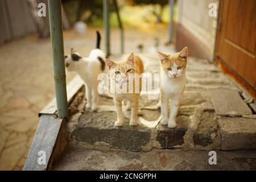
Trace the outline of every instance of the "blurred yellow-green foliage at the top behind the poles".
{"type": "MultiPolygon", "coordinates": [[[[73,25],[82,20],[89,26],[102,27],[102,0],[62,0],[69,23],[73,25]]],[[[168,0],[118,0],[119,13],[125,27],[151,26],[156,23],[168,23],[170,9],[168,0]]],[[[176,7],[176,5],[175,5],[176,7]]],[[[174,20],[176,20],[176,8],[174,20]]],[[[118,27],[112,1],[110,1],[110,26],[118,27]]]]}

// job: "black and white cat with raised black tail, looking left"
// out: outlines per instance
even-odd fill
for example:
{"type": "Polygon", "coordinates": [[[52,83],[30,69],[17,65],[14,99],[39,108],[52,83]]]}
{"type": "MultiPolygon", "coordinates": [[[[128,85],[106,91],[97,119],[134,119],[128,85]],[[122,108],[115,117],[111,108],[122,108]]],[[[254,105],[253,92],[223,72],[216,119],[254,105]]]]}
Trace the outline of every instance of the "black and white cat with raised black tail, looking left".
{"type": "Polygon", "coordinates": [[[97,77],[100,73],[105,72],[106,54],[100,49],[101,35],[97,31],[96,49],[90,51],[88,57],[81,57],[80,54],[71,48],[71,54],[65,56],[65,67],[68,71],[74,71],[85,82],[86,89],[86,109],[98,109],[98,90],[99,80],[97,77]]]}

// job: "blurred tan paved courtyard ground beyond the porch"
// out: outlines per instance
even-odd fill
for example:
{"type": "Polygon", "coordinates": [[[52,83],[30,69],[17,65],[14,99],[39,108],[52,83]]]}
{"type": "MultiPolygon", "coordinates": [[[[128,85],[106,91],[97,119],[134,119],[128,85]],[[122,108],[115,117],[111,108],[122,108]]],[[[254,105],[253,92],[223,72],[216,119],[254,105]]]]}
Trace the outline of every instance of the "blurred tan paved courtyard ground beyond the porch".
{"type": "MultiPolygon", "coordinates": [[[[102,28],[97,28],[104,32],[102,28]]],[[[74,47],[82,56],[96,45],[96,29],[88,28],[85,35],[73,30],[64,32],[64,49],[74,47]]],[[[167,40],[167,29],[151,31],[126,30],[126,51],[144,43],[154,45],[154,38],[167,40]],[[161,34],[159,34],[161,32],[161,34]],[[159,34],[159,35],[158,35],[159,34]]],[[[112,52],[119,53],[119,30],[111,31],[112,52]]],[[[104,35],[102,36],[104,40],[104,35]]],[[[104,47],[104,43],[101,43],[104,47]]],[[[55,96],[51,43],[36,35],[13,40],[0,47],[0,170],[20,170],[38,125],[38,113],[55,96]]],[[[75,76],[66,73],[67,82],[75,76]]]]}

